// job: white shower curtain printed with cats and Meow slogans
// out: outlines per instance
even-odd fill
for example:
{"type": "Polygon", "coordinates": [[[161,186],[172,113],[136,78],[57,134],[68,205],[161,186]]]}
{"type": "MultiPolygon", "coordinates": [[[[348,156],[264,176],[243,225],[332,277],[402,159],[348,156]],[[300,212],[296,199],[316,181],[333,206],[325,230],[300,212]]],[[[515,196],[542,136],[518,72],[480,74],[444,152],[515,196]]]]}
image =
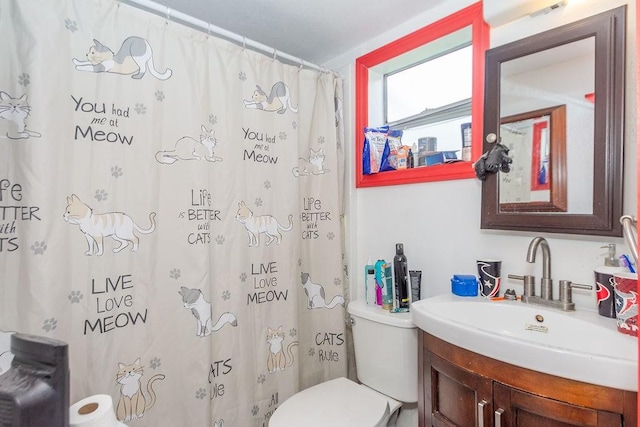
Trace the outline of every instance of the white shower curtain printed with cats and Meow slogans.
{"type": "Polygon", "coordinates": [[[3,0],[0,39],[0,375],[65,341],[71,402],[150,427],[346,375],[339,78],[116,0],[3,0]]]}

